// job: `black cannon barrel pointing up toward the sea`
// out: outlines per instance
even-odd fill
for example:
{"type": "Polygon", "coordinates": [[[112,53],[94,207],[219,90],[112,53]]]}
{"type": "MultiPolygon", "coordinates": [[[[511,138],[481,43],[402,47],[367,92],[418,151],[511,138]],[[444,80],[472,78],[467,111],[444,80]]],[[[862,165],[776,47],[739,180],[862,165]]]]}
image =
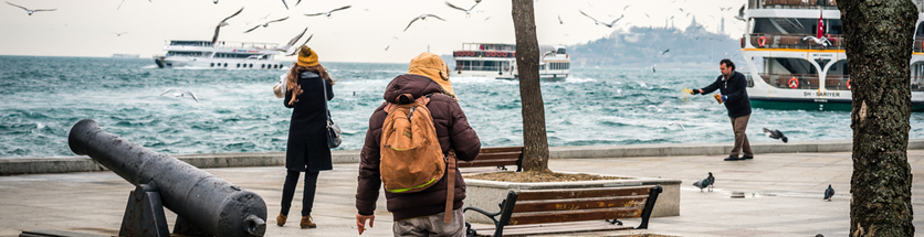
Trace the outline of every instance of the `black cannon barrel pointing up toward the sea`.
{"type": "Polygon", "coordinates": [[[260,195],[106,132],[93,120],[74,125],[67,143],[132,184],[154,184],[165,207],[213,236],[263,236],[266,230],[266,203],[260,195]]]}

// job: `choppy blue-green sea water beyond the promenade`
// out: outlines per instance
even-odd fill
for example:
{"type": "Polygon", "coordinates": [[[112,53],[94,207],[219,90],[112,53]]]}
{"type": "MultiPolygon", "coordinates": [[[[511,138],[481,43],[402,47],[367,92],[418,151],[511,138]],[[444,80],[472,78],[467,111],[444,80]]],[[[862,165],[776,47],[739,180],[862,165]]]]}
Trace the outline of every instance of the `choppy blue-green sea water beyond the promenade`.
{"type": "MultiPolygon", "coordinates": [[[[344,131],[337,149],[360,149],[386,85],[408,65],[323,65],[338,79],[329,101],[344,131]]],[[[717,68],[573,67],[568,78],[542,83],[548,143],[731,143],[725,107],[712,96],[682,93],[715,80],[717,68]]],[[[161,69],[145,58],[0,56],[0,158],[72,155],[67,132],[81,119],[157,152],[284,151],[292,110],[272,94],[284,73],[161,69]],[[169,88],[193,91],[199,103],[160,96],[169,88]]],[[[452,84],[482,147],[523,144],[517,80],[452,77],[452,84]]],[[[848,111],[754,109],[749,140],[780,142],[764,136],[765,127],[790,141],[852,137],[848,111]]],[[[924,138],[924,115],[912,114],[910,137],[924,138]]]]}

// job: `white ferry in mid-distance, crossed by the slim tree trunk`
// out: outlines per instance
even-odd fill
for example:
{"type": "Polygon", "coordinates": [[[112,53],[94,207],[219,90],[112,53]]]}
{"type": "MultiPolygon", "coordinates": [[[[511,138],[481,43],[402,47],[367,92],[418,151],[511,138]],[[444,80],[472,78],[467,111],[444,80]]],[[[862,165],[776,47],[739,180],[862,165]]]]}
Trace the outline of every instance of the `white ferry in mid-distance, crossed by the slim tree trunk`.
{"type": "MultiPolygon", "coordinates": [[[[564,79],[570,74],[571,61],[560,45],[539,45],[539,78],[564,79]]],[[[516,79],[516,44],[463,43],[453,51],[455,75],[461,77],[493,77],[516,79]]]]}

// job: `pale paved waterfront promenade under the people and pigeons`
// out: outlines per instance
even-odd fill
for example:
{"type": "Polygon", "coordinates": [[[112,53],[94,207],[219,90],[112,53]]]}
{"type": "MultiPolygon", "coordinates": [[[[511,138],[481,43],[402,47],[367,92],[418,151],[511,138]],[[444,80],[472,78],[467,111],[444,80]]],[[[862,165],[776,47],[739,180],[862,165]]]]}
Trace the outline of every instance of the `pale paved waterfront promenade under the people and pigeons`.
{"type": "MultiPolygon", "coordinates": [[[[704,146],[700,146],[704,147],[704,146]]],[[[754,160],[727,162],[724,155],[623,158],[557,158],[554,171],[682,180],[680,216],[652,218],[648,230],[571,234],[619,236],[651,233],[676,236],[846,236],[849,231],[850,152],[757,153],[754,160]],[[691,184],[713,172],[715,192],[701,193],[691,184]],[[822,201],[832,184],[833,202],[822,201]],[[731,198],[744,192],[745,198],[731,198]]],[[[924,229],[924,150],[909,150],[914,174],[914,224],[924,229]]],[[[316,229],[297,227],[301,195],[293,201],[293,216],[275,226],[284,169],[242,166],[206,171],[260,194],[267,204],[266,236],[356,236],[354,193],[358,164],[339,162],[322,172],[313,211],[316,229]]],[[[297,193],[301,193],[301,184],[297,193]]],[[[22,230],[61,229],[93,234],[117,233],[128,192],[133,186],[112,172],[75,172],[0,176],[0,236],[22,230]]],[[[500,202],[500,201],[498,201],[500,202]]],[[[376,227],[364,236],[390,236],[391,216],[385,200],[378,203],[376,227]]],[[[176,215],[167,212],[172,225],[176,215]]],[[[627,219],[626,225],[638,225],[627,219]]],[[[924,236],[917,231],[915,236],[924,236]]]]}

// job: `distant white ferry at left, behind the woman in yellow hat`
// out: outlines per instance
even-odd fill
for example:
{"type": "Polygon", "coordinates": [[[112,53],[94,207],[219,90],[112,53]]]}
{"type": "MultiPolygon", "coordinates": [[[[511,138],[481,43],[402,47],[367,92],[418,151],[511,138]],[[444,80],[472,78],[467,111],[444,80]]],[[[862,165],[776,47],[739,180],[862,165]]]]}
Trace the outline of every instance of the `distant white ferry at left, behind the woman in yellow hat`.
{"type": "Polygon", "coordinates": [[[239,43],[219,41],[169,41],[166,55],[154,56],[160,68],[192,67],[216,69],[281,69],[275,60],[281,52],[274,43],[239,43]]]}

